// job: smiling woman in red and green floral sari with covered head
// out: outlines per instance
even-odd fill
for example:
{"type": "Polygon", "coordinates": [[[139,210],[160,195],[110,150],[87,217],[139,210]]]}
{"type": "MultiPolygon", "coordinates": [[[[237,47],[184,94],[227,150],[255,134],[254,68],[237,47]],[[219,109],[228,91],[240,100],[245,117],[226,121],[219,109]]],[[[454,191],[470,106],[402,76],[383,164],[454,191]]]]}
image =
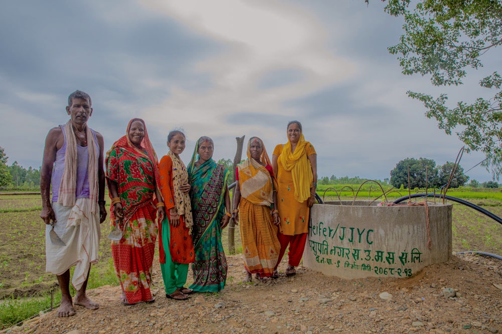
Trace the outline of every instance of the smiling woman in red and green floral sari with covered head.
{"type": "Polygon", "coordinates": [[[165,215],[158,190],[158,161],[145,122],[134,118],[126,135],[106,153],[106,181],[111,198],[111,225],[122,231],[111,241],[115,272],[124,305],[152,302],[152,264],[157,238],[157,213],[165,215]]]}

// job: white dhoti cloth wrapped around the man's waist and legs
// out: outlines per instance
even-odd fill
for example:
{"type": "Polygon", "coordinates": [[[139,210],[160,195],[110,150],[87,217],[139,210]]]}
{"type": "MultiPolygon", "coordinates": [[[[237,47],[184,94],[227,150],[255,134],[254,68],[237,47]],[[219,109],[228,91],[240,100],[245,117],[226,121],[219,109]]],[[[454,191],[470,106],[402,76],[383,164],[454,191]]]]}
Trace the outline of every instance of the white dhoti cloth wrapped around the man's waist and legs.
{"type": "Polygon", "coordinates": [[[53,245],[49,236],[52,228],[45,229],[46,271],[62,275],[75,265],[71,280],[75,289],[79,290],[87,279],[91,263],[97,262],[101,227],[99,211],[90,211],[89,198],[77,198],[74,206],[62,206],[52,203],[57,222],[54,231],[66,243],[66,246],[53,245]]]}

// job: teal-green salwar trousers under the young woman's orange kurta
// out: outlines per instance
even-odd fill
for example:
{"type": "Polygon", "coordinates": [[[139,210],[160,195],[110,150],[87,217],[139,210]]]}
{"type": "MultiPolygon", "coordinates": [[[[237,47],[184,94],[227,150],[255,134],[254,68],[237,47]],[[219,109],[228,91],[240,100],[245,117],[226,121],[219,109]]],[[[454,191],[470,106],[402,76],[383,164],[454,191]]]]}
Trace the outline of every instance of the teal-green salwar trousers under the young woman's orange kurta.
{"type": "Polygon", "coordinates": [[[170,227],[169,220],[164,218],[162,222],[162,246],[166,253],[166,263],[160,264],[162,278],[164,279],[164,287],[167,294],[176,291],[177,288],[182,289],[187,281],[188,263],[173,262],[171,252],[169,251],[170,244],[170,227]]]}

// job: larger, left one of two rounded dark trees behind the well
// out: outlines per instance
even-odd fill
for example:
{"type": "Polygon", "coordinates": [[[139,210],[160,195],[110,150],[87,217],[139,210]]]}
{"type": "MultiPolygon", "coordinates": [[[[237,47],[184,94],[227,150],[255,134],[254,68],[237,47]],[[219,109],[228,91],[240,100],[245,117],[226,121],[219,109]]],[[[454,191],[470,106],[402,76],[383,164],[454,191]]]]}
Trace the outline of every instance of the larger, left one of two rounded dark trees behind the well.
{"type": "Polygon", "coordinates": [[[435,187],[438,183],[436,162],[431,159],[406,158],[397,163],[391,171],[391,184],[395,188],[408,188],[408,167],[410,167],[410,188],[435,187]],[[426,177],[427,175],[427,177],[426,177]]]}

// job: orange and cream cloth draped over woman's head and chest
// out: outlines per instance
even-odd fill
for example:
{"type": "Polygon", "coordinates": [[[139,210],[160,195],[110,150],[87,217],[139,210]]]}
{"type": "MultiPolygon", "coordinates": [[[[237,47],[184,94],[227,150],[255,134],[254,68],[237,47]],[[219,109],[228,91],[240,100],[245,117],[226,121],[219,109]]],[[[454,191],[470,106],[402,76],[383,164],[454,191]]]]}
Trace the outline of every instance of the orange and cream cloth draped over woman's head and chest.
{"type": "Polygon", "coordinates": [[[247,142],[247,160],[237,165],[240,195],[253,204],[270,206],[273,203],[274,181],[267,168],[251,157],[249,146],[251,139],[254,138],[262,143],[263,152],[260,161],[271,165],[263,141],[258,137],[249,138],[247,142]]]}

